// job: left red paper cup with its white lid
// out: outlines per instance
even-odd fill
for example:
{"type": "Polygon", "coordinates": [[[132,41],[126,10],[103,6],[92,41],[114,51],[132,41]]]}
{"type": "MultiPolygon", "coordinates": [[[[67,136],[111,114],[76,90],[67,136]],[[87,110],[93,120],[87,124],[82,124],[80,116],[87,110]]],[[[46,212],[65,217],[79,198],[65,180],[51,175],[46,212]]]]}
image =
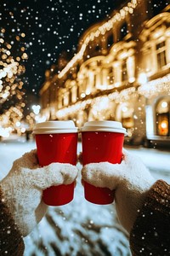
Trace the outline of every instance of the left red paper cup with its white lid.
{"type": "MultiPolygon", "coordinates": [[[[37,157],[41,166],[51,163],[77,165],[77,127],[72,121],[48,121],[34,129],[37,157]]],[[[43,191],[42,199],[48,206],[62,206],[73,200],[74,183],[52,186],[43,191]]]]}

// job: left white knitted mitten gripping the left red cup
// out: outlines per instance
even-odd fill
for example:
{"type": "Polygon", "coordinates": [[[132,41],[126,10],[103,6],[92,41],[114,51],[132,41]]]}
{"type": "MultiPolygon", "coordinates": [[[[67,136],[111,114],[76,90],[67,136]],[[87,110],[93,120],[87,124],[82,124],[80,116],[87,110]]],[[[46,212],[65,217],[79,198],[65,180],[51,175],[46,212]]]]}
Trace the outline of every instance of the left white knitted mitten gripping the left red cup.
{"type": "Polygon", "coordinates": [[[76,177],[77,167],[70,164],[53,163],[40,167],[36,150],[14,161],[0,187],[3,202],[8,206],[22,236],[27,236],[47,211],[42,201],[42,190],[52,185],[70,184],[76,177]]]}

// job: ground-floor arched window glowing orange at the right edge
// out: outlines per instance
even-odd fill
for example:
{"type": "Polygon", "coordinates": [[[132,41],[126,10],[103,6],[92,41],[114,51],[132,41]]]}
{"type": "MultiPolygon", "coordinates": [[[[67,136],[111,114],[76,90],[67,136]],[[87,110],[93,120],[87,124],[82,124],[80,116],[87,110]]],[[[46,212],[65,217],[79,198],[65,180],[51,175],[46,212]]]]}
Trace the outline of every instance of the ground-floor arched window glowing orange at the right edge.
{"type": "Polygon", "coordinates": [[[156,133],[170,136],[170,98],[163,98],[156,104],[156,133]]]}

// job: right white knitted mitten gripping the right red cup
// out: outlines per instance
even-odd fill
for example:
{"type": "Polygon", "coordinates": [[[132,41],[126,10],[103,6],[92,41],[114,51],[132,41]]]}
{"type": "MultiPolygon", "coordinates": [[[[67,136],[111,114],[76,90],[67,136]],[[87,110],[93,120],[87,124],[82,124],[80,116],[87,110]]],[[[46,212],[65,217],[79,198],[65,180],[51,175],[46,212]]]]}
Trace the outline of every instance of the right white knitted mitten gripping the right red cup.
{"type": "Polygon", "coordinates": [[[88,164],[82,168],[82,179],[96,187],[115,189],[117,216],[130,232],[147,191],[155,183],[139,157],[123,150],[122,163],[88,164]]]}

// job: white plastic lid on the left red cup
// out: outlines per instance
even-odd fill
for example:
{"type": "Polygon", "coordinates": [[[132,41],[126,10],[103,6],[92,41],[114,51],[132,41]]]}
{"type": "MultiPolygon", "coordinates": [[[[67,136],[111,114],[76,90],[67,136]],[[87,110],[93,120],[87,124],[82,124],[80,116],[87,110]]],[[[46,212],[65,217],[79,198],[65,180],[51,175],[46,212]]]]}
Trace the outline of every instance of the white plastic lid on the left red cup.
{"type": "Polygon", "coordinates": [[[33,129],[33,134],[76,133],[77,131],[78,128],[73,121],[57,120],[37,123],[33,129]]]}

